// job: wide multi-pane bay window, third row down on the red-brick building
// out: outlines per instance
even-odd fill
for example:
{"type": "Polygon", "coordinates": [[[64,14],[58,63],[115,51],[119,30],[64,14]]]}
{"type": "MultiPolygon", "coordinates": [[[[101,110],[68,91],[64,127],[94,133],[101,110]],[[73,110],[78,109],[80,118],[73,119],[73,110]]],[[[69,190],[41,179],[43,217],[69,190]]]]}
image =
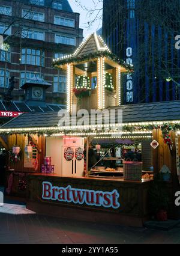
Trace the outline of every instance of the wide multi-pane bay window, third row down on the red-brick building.
{"type": "Polygon", "coordinates": [[[23,48],[21,64],[44,66],[44,50],[23,48]]]}

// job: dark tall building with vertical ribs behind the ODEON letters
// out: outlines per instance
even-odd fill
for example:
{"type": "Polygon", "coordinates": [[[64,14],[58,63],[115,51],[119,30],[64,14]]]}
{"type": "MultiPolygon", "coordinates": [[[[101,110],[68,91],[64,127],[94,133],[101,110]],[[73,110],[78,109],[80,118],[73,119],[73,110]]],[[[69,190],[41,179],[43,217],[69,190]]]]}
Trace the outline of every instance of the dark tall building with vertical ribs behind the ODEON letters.
{"type": "Polygon", "coordinates": [[[167,2],[104,0],[103,38],[134,65],[134,73],[122,78],[124,104],[180,99],[180,50],[175,49],[180,1],[173,7],[167,2]]]}

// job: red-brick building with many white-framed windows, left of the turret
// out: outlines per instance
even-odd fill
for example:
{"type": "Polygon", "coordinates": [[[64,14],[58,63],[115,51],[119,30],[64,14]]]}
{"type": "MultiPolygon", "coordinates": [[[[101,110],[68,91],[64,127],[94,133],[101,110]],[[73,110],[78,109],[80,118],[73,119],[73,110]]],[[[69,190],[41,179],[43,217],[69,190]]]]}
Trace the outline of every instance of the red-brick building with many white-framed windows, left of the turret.
{"type": "Polygon", "coordinates": [[[46,91],[47,102],[65,105],[66,74],[53,69],[53,58],[73,53],[83,40],[79,14],[68,0],[2,0],[0,35],[10,46],[0,50],[0,94],[14,76],[14,100],[25,100],[21,86],[35,75],[53,85],[46,91]]]}

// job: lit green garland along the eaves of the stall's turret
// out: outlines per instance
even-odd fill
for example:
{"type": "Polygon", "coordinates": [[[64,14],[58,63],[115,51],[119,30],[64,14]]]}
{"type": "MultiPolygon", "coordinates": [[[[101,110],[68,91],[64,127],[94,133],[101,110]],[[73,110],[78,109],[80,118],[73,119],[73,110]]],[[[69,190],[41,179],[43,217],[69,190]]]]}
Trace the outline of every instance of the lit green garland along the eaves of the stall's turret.
{"type": "Polygon", "coordinates": [[[52,66],[58,68],[61,65],[63,66],[74,62],[79,63],[82,61],[88,61],[89,59],[98,59],[105,57],[111,59],[113,62],[116,62],[117,64],[119,64],[119,66],[125,67],[128,72],[133,72],[133,67],[131,65],[127,64],[123,59],[118,58],[118,56],[116,56],[115,54],[110,53],[108,50],[92,52],[79,57],[71,56],[70,58],[58,59],[53,62],[52,66]]]}

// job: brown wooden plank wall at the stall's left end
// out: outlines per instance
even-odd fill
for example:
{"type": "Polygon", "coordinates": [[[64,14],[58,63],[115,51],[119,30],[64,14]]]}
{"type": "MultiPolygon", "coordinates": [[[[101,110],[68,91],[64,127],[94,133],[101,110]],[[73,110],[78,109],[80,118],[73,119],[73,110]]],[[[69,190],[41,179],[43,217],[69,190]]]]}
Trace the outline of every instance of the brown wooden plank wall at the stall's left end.
{"type": "MultiPolygon", "coordinates": [[[[14,169],[16,172],[35,172],[33,168],[24,167],[24,154],[25,154],[25,136],[24,135],[11,135],[8,137],[8,148],[12,148],[14,145],[18,145],[21,149],[21,159],[17,163],[11,163],[9,161],[10,169],[14,169]]],[[[41,164],[44,162],[44,156],[46,152],[46,137],[38,137],[38,146],[41,148],[41,152],[38,154],[38,171],[40,172],[41,164]]]]}

